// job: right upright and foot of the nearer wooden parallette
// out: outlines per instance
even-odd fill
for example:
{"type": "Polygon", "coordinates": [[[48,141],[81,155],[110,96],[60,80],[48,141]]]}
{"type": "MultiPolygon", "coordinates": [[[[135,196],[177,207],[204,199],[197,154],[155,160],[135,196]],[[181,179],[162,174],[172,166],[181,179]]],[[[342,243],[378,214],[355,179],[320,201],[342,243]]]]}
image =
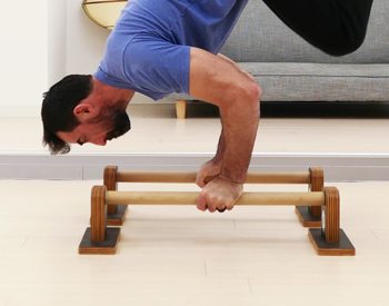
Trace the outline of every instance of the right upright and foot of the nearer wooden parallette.
{"type": "Polygon", "coordinates": [[[310,228],[309,238],[319,255],[356,255],[356,249],[340,228],[340,197],[336,187],[323,189],[326,204],[322,207],[321,228],[310,228]]]}

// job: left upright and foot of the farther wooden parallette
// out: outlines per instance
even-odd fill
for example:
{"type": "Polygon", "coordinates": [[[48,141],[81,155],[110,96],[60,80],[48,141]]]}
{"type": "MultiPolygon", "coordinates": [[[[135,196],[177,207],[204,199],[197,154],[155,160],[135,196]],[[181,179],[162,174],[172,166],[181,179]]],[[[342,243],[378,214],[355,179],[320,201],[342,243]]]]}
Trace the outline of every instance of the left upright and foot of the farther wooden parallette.
{"type": "MultiPolygon", "coordinates": [[[[118,167],[107,166],[104,168],[104,186],[109,191],[118,190],[118,167]]],[[[108,205],[107,208],[107,225],[121,226],[127,213],[127,206],[123,205],[108,205]]]]}

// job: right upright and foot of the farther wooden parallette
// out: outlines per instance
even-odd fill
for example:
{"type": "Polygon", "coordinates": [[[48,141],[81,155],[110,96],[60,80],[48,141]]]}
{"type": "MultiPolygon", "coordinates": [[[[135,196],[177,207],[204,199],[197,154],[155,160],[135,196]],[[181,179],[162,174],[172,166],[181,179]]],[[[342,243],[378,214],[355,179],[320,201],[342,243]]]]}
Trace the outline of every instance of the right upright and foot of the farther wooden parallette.
{"type": "MultiPolygon", "coordinates": [[[[325,174],[322,168],[309,168],[310,184],[309,191],[322,191],[325,187],[325,174]]],[[[296,214],[303,227],[321,226],[321,207],[319,206],[297,206],[296,214]]]]}

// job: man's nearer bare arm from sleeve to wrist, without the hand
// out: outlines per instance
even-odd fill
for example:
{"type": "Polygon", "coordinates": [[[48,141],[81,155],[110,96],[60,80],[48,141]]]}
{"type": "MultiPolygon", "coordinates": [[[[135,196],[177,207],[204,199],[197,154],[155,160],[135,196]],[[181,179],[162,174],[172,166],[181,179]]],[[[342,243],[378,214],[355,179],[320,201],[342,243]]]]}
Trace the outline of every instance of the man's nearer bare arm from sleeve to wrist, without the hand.
{"type": "Polygon", "coordinates": [[[190,95],[219,107],[225,151],[221,176],[243,182],[259,120],[257,82],[222,57],[191,48],[190,95]]]}

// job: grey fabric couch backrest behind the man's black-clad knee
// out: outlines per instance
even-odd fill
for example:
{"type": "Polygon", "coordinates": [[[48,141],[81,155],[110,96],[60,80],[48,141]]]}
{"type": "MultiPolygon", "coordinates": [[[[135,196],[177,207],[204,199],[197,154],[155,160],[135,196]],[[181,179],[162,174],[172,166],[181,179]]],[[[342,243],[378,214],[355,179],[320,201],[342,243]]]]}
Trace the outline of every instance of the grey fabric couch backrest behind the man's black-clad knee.
{"type": "Polygon", "coordinates": [[[388,17],[388,0],[375,0],[362,47],[351,55],[336,58],[311,47],[262,1],[250,0],[221,52],[236,61],[252,62],[389,62],[388,17]]]}

